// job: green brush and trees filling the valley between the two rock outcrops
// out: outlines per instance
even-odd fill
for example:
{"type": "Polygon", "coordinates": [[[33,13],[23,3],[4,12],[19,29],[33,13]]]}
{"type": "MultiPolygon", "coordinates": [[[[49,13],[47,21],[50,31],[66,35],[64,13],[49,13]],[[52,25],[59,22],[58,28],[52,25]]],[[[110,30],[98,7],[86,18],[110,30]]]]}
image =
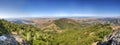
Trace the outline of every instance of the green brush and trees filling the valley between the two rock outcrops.
{"type": "Polygon", "coordinates": [[[45,32],[45,29],[42,30],[32,25],[0,20],[0,34],[17,32],[30,45],[91,45],[95,41],[102,41],[103,37],[112,31],[109,24],[86,25],[82,28],[74,22],[64,24],[58,21],[55,24],[62,27],[62,30],[66,28],[67,30],[62,33],[55,33],[55,29],[50,29],[53,33],[45,32]],[[74,26],[76,27],[72,29],[74,26]]]}

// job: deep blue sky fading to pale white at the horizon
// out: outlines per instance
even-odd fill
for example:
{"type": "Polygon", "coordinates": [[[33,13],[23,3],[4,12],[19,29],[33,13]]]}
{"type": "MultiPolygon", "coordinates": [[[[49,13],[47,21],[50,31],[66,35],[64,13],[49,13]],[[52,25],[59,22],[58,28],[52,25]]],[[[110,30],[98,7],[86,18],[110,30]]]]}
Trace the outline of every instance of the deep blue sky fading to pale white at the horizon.
{"type": "Polygon", "coordinates": [[[120,16],[119,0],[0,0],[0,18],[120,16]]]}

